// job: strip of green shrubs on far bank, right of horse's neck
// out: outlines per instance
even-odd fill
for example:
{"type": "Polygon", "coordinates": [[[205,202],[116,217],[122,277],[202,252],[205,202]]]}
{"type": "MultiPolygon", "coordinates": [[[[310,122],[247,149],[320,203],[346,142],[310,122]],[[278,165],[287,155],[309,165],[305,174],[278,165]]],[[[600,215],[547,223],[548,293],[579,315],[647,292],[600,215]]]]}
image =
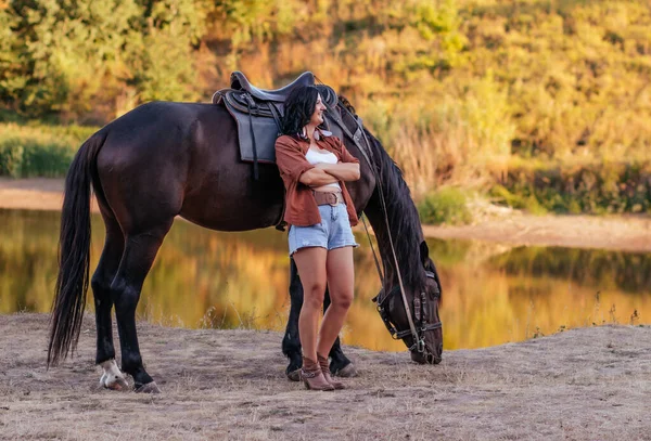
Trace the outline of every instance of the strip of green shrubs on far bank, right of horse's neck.
{"type": "Polygon", "coordinates": [[[430,191],[419,200],[421,219],[427,224],[469,223],[468,203],[477,197],[533,215],[651,213],[651,161],[511,163],[478,186],[430,191]]]}

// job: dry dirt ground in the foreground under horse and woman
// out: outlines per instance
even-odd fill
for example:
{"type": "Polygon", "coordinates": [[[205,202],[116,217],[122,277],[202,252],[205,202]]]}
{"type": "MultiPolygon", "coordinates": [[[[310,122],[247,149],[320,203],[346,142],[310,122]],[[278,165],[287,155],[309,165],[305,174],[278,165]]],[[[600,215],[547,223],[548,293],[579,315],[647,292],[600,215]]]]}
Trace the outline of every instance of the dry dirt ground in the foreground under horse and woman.
{"type": "Polygon", "coordinates": [[[94,321],[46,371],[48,316],[0,315],[0,439],[651,440],[651,327],[602,326],[444,352],[346,347],[360,375],[312,392],[284,377],[281,335],[139,324],[163,393],[97,388],[94,321]]]}

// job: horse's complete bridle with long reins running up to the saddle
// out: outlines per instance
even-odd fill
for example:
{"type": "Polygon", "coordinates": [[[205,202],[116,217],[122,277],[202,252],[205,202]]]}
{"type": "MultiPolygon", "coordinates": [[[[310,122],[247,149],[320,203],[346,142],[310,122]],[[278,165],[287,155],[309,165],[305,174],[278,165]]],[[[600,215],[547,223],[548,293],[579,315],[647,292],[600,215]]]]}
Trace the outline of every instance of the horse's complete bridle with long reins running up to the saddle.
{"type": "MultiPolygon", "coordinates": [[[[327,91],[329,89],[328,92],[332,91],[331,88],[329,88],[324,85],[322,85],[322,87],[327,88],[326,89],[327,91]]],[[[332,93],[334,93],[334,91],[332,91],[332,93]]],[[[384,221],[386,222],[386,232],[388,235],[388,243],[391,245],[393,260],[394,260],[394,264],[396,268],[398,285],[395,286],[393,289],[391,289],[387,295],[381,297],[381,294],[383,293],[383,290],[382,290],[382,291],[380,291],[380,295],[378,295],[378,297],[375,297],[375,299],[379,299],[378,300],[378,311],[380,312],[380,316],[382,317],[382,321],[384,322],[386,328],[388,329],[392,338],[405,339],[405,338],[411,336],[414,343],[409,348],[409,351],[413,352],[416,350],[419,353],[423,353],[425,351],[425,338],[424,338],[425,332],[433,330],[433,329],[439,329],[439,328],[442,328],[443,324],[441,321],[435,322],[435,323],[426,322],[426,319],[425,319],[426,314],[424,313],[424,311],[426,311],[426,309],[424,307],[426,306],[427,300],[426,300],[425,293],[421,293],[420,298],[414,296],[414,298],[413,298],[413,315],[416,317],[416,322],[414,322],[413,317],[411,316],[411,308],[409,307],[409,302],[407,301],[407,296],[405,294],[405,286],[403,284],[403,276],[400,275],[400,269],[398,265],[398,258],[396,256],[396,250],[393,245],[393,237],[392,237],[391,228],[388,224],[386,203],[384,200],[384,194],[382,191],[380,174],[378,172],[378,169],[374,167],[373,161],[371,160],[371,158],[373,156],[373,151],[369,147],[369,145],[370,145],[369,140],[362,128],[360,118],[357,115],[354,115],[345,105],[342,105],[341,101],[339,99],[339,95],[337,95],[336,104],[339,104],[340,107],[343,108],[356,122],[355,133],[352,133],[350,130],[348,129],[348,127],[346,127],[346,125],[342,120],[339,113],[336,112],[336,109],[335,109],[336,105],[331,107],[327,103],[327,100],[326,100],[324,104],[326,104],[326,107],[328,108],[327,115],[330,116],[334,120],[334,122],[336,122],[336,125],[344,131],[344,133],[355,143],[355,145],[357,146],[357,148],[359,150],[359,152],[366,159],[367,164],[369,165],[370,169],[373,172],[373,176],[375,178],[376,187],[379,189],[379,196],[380,196],[380,202],[382,205],[382,212],[384,215],[384,221]],[[368,147],[368,153],[360,143],[361,139],[363,139],[363,143],[368,147]],[[369,155],[371,156],[371,158],[369,158],[369,155]],[[403,299],[403,304],[405,307],[405,313],[407,314],[407,321],[409,322],[409,329],[398,330],[396,328],[396,326],[393,324],[393,322],[391,321],[391,317],[388,316],[387,308],[385,307],[386,300],[390,299],[397,291],[400,293],[400,297],[403,299]],[[418,323],[418,326],[417,326],[417,323],[418,323]]],[[[362,217],[362,221],[363,221],[363,226],[365,226],[365,229],[367,231],[367,235],[368,235],[369,232],[368,232],[368,228],[367,228],[366,220],[363,219],[363,217],[362,217]]],[[[382,271],[380,270],[380,263],[378,262],[378,257],[375,256],[375,249],[373,248],[373,244],[370,239],[370,235],[369,235],[369,243],[371,243],[371,249],[373,251],[373,258],[375,259],[375,268],[378,269],[378,274],[380,275],[381,286],[384,286],[384,277],[382,276],[382,271]]],[[[438,286],[438,281],[436,280],[435,273],[425,270],[425,275],[429,278],[433,278],[436,281],[435,298],[437,298],[437,299],[441,298],[441,287],[438,286]]],[[[373,300],[375,300],[375,299],[373,299],[373,300]]]]}

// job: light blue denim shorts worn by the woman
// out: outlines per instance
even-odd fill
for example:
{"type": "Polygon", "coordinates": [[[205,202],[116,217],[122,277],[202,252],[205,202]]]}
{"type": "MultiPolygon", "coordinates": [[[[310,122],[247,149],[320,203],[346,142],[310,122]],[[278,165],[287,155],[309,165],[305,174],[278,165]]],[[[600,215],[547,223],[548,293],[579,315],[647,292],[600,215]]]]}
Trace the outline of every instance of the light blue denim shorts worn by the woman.
{"type": "Polygon", "coordinates": [[[290,256],[306,247],[328,250],[346,246],[358,247],[355,242],[346,204],[319,205],[321,222],[309,226],[290,226],[290,256]]]}

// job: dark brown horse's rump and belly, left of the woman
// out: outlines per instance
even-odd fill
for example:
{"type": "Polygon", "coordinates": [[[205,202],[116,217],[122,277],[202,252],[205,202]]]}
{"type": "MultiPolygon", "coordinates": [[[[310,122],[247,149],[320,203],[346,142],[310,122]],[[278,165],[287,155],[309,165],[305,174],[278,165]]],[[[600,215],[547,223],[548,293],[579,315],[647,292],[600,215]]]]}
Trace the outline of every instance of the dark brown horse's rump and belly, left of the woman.
{"type": "Polygon", "coordinates": [[[107,205],[143,229],[180,215],[215,230],[273,224],[282,211],[276,166],[252,178],[242,163],[237,126],[213,104],[152,102],[105,126],[97,160],[107,205]]]}

